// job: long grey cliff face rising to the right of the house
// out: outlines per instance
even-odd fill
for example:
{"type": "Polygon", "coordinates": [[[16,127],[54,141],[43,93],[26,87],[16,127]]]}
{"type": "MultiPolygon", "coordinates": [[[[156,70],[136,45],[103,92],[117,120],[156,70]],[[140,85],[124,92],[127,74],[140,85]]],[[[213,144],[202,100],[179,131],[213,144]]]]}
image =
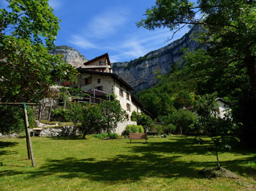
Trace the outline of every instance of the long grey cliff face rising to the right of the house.
{"type": "Polygon", "coordinates": [[[199,43],[193,40],[193,34],[197,32],[197,28],[190,29],[182,38],[170,43],[166,47],[154,50],[130,62],[112,63],[113,73],[120,75],[123,80],[131,84],[135,91],[144,90],[155,85],[159,80],[158,75],[167,75],[172,65],[180,61],[182,65],[183,52],[182,48],[195,50],[199,47],[199,43]]]}

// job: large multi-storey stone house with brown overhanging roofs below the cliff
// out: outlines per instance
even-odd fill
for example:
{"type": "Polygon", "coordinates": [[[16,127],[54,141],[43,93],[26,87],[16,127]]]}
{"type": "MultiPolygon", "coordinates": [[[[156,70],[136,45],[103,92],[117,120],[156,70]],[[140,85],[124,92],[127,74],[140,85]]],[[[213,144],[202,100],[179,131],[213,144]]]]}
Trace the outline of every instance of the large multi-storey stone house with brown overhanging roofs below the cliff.
{"type": "Polygon", "coordinates": [[[121,134],[128,124],[136,124],[131,121],[131,114],[133,111],[140,113],[143,111],[143,104],[131,95],[134,88],[129,85],[125,80],[120,78],[115,73],[112,73],[112,66],[110,59],[107,55],[95,57],[88,62],[85,62],[79,68],[77,75],[77,88],[80,88],[84,93],[90,94],[93,98],[100,98],[110,93],[114,93],[116,99],[120,103],[123,110],[126,111],[126,120],[118,124],[116,132],[121,134]]]}

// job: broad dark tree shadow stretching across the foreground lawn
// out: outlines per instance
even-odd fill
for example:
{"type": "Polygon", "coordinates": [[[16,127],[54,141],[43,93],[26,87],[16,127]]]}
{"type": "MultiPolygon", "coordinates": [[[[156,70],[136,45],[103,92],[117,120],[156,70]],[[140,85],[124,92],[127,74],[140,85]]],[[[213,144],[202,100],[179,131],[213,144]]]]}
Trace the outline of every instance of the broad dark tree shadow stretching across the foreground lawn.
{"type": "MultiPolygon", "coordinates": [[[[233,169],[233,172],[242,174],[252,170],[241,164],[247,159],[231,162],[222,162],[222,167],[233,169]]],[[[32,177],[45,177],[56,174],[60,178],[84,178],[92,181],[125,181],[137,182],[144,177],[190,179],[203,178],[198,172],[201,168],[216,167],[216,162],[183,162],[180,156],[163,157],[156,154],[118,155],[113,159],[95,161],[95,159],[49,159],[37,172],[31,172],[32,177]]],[[[254,177],[254,172],[248,174],[254,177]]]]}

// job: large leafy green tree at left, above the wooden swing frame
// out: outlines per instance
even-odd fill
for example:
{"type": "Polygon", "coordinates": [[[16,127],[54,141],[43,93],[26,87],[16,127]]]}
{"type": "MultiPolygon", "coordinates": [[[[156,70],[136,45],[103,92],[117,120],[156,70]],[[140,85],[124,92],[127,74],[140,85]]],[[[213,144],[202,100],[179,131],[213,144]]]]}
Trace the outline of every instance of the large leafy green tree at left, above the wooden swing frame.
{"type": "Polygon", "coordinates": [[[7,1],[8,9],[0,9],[0,99],[36,102],[76,72],[48,53],[60,29],[48,0],[7,1]]]}

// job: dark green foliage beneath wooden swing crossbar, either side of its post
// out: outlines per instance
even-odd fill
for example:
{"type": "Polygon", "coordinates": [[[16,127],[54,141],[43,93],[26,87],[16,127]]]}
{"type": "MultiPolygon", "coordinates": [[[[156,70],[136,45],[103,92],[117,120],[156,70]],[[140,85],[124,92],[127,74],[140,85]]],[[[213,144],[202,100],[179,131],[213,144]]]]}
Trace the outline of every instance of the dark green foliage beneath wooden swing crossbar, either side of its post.
{"type": "MultiPolygon", "coordinates": [[[[30,128],[35,126],[34,109],[27,106],[27,116],[30,128]]],[[[20,134],[25,132],[25,116],[23,106],[0,106],[0,132],[1,134],[20,134]],[[12,117],[10,117],[12,116],[12,117]]]]}

